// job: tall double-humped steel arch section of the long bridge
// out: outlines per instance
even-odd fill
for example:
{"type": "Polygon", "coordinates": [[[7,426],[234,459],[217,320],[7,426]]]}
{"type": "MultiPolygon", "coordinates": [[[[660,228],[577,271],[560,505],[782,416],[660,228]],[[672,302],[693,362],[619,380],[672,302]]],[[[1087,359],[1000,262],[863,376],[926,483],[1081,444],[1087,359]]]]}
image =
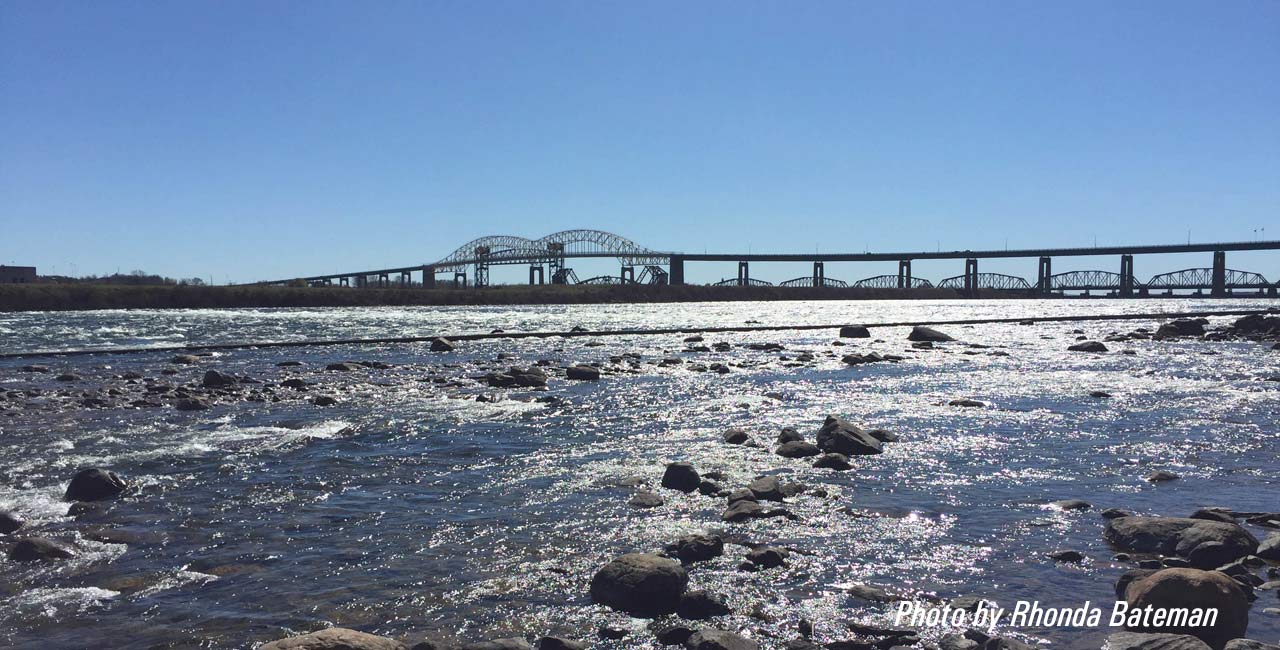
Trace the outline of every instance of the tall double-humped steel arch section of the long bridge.
{"type": "Polygon", "coordinates": [[[623,266],[669,262],[669,255],[650,251],[626,237],[604,230],[561,230],[539,239],[489,235],[472,239],[431,266],[438,271],[462,271],[472,265],[554,264],[566,257],[616,257],[623,266]]]}

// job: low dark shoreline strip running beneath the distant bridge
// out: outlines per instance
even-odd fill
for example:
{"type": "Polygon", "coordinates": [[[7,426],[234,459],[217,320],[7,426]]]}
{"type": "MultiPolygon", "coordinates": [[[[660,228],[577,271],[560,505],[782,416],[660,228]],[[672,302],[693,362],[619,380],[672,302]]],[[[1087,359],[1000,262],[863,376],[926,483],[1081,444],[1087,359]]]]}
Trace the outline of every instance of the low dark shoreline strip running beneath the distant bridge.
{"type": "MultiPolygon", "coordinates": [[[[984,290],[979,298],[1043,298],[984,290]]],[[[1155,296],[1153,296],[1155,297],[1155,296]]],[[[1243,298],[1244,296],[1239,296],[1243,298]]],[[[963,299],[954,289],[707,285],[498,285],[484,289],[0,284],[0,312],[463,305],[607,305],[731,301],[963,299]]],[[[1098,296],[1097,298],[1102,298],[1098,296]]]]}

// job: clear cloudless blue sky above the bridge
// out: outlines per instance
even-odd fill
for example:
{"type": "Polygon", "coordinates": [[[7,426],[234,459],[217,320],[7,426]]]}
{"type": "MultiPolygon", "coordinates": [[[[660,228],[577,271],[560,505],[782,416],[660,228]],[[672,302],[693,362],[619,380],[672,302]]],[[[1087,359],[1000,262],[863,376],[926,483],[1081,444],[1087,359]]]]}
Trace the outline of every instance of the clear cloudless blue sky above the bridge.
{"type": "MultiPolygon", "coordinates": [[[[568,228],[664,251],[1280,239],[1277,215],[1272,0],[0,3],[0,262],[42,273],[248,281],[568,228]]],[[[1280,279],[1280,253],[1228,262],[1280,279]]],[[[1119,261],[1055,261],[1083,267],[1119,261]]]]}

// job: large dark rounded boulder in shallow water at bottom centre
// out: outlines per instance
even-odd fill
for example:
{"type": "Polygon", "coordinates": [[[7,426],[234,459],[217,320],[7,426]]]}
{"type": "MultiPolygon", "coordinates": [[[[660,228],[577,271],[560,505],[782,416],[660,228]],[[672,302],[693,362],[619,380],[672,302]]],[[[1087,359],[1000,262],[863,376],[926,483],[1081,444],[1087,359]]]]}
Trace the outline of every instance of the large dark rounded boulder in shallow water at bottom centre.
{"type": "Polygon", "coordinates": [[[650,553],[628,553],[608,563],[591,578],[591,601],[636,617],[676,610],[689,586],[678,562],[650,553]]]}

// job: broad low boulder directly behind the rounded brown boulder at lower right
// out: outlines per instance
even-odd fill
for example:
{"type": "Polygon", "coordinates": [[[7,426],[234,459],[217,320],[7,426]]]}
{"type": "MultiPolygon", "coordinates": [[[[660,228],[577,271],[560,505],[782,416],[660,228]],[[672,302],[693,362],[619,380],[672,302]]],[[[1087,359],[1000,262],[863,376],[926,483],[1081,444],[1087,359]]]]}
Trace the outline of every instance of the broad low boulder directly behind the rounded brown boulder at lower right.
{"type": "Polygon", "coordinates": [[[1119,517],[1102,534],[1119,550],[1193,559],[1202,568],[1226,564],[1258,549],[1258,540],[1236,523],[1189,517],[1119,517]],[[1203,546],[1203,548],[1202,548],[1203,546]]]}

